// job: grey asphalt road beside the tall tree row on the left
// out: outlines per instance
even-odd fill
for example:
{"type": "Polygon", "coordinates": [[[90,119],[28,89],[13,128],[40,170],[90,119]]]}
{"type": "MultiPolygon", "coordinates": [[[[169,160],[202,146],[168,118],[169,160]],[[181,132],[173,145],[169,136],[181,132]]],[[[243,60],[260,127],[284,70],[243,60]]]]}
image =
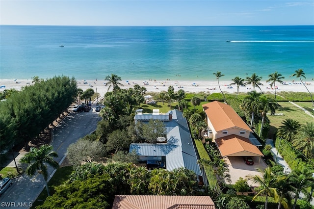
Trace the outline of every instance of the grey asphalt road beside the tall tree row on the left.
{"type": "MultiPolygon", "coordinates": [[[[51,145],[58,153],[55,161],[61,162],[65,158],[67,148],[79,138],[96,130],[100,121],[98,112],[92,108],[89,112],[70,113],[53,131],[51,145]]],[[[54,174],[52,167],[48,168],[49,180],[54,174]]],[[[26,209],[32,206],[38,195],[44,188],[42,175],[28,177],[23,174],[13,180],[13,184],[1,195],[1,209],[26,209]]]]}

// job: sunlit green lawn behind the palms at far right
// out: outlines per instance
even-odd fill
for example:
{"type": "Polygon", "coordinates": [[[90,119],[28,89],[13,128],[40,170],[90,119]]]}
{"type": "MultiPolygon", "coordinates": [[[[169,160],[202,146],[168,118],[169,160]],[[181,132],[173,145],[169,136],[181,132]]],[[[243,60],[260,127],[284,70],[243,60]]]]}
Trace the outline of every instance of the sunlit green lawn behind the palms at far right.
{"type": "Polygon", "coordinates": [[[283,113],[283,115],[268,115],[270,121],[269,137],[272,137],[278,128],[282,125],[282,122],[288,118],[299,121],[301,124],[305,124],[307,121],[313,120],[311,116],[306,114],[302,109],[288,102],[279,102],[280,106],[276,109],[276,113],[283,113]]]}

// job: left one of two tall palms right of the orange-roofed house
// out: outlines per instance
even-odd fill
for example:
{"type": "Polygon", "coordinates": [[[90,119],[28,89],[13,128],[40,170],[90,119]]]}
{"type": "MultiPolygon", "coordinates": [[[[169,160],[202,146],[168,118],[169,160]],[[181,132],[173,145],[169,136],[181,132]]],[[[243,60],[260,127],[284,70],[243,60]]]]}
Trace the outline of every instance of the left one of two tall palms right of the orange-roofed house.
{"type": "Polygon", "coordinates": [[[252,129],[254,123],[254,117],[256,112],[257,100],[260,96],[262,96],[262,92],[250,91],[247,93],[247,96],[242,101],[241,107],[245,111],[249,111],[251,113],[251,121],[250,128],[252,129]]]}

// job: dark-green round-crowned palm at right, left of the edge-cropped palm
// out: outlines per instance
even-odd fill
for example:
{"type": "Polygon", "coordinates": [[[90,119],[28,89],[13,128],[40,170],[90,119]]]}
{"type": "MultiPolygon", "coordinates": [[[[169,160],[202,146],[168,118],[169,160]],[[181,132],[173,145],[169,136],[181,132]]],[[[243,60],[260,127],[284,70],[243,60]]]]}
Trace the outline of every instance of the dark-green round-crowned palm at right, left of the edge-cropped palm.
{"type": "Polygon", "coordinates": [[[278,129],[278,135],[284,137],[288,141],[292,141],[295,138],[298,130],[301,127],[301,124],[294,119],[286,119],[284,120],[278,129]]]}

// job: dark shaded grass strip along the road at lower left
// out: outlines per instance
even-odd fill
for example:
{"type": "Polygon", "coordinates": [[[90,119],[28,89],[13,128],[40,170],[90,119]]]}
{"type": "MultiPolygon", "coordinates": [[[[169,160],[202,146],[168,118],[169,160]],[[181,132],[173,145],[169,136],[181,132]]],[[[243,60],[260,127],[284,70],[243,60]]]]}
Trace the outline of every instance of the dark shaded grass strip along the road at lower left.
{"type": "MultiPolygon", "coordinates": [[[[69,176],[72,174],[73,171],[74,171],[73,166],[65,166],[57,169],[51,180],[48,182],[50,195],[53,195],[53,193],[55,192],[54,187],[65,183],[65,181],[69,179],[69,176]]],[[[36,201],[33,203],[33,206],[31,208],[34,209],[36,208],[36,206],[42,205],[47,197],[48,197],[47,191],[46,188],[44,188],[40,195],[37,197],[36,201]]]]}

